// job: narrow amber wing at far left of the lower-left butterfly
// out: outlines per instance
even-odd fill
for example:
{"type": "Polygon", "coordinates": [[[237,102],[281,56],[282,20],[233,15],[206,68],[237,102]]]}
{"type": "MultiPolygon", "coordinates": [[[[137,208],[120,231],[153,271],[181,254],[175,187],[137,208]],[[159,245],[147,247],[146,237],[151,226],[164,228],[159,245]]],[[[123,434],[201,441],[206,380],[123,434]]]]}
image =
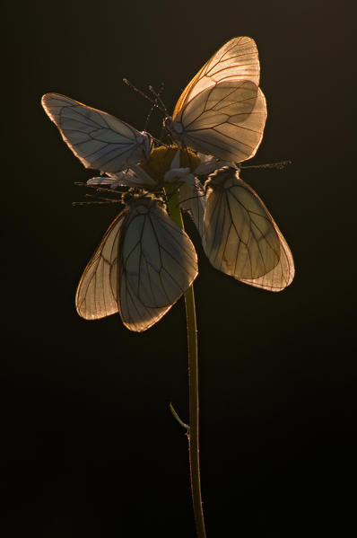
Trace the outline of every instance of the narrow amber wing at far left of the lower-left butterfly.
{"type": "Polygon", "coordinates": [[[109,226],[77,287],[75,305],[86,320],[118,312],[118,244],[125,214],[126,210],[109,226]]]}

